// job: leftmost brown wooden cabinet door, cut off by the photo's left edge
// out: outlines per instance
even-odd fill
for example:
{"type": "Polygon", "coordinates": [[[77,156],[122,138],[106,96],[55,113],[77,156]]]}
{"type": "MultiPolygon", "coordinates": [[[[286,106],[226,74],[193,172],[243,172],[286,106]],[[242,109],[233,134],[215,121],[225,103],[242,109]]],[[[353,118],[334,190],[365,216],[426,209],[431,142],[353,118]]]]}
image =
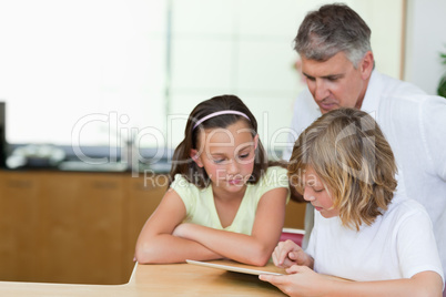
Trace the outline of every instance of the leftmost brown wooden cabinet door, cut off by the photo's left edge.
{"type": "Polygon", "coordinates": [[[0,172],[0,280],[34,279],[39,176],[0,172]]]}

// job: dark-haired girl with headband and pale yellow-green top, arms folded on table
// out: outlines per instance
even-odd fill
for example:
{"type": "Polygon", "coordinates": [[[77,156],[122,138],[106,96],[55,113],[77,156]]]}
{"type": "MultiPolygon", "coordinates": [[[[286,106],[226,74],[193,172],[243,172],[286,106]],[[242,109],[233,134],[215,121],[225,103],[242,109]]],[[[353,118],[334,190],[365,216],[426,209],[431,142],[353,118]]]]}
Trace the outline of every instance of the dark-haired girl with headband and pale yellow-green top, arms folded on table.
{"type": "Polygon", "coordinates": [[[284,224],[288,180],[285,168],[268,167],[257,122],[239,98],[216,96],[192,111],[170,177],[138,239],[139,263],[268,262],[284,224]]]}

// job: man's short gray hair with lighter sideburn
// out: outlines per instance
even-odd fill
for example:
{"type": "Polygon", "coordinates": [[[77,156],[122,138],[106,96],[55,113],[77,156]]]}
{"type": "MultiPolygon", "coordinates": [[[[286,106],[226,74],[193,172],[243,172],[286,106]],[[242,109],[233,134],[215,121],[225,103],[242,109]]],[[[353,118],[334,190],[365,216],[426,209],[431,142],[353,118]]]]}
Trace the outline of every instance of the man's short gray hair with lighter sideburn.
{"type": "Polygon", "coordinates": [[[294,39],[294,50],[316,61],[326,61],[343,51],[357,68],[372,51],[371,34],[365,21],[349,7],[327,4],[306,14],[294,39]]]}

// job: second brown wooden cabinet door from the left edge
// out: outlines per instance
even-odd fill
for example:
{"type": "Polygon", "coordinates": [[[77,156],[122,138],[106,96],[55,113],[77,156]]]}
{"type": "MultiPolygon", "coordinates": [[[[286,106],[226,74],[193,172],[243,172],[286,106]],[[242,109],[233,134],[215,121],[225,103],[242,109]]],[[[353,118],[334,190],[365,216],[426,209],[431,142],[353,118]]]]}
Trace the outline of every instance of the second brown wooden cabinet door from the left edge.
{"type": "Polygon", "coordinates": [[[36,281],[79,283],[83,242],[78,225],[82,204],[77,175],[44,173],[39,204],[40,273],[36,281]]]}

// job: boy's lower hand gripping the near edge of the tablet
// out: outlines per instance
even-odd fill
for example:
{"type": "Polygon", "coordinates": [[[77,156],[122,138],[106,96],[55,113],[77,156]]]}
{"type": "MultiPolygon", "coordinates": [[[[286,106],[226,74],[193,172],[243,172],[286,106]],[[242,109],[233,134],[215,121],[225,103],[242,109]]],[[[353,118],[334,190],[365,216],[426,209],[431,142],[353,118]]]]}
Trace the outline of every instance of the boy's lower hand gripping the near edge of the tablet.
{"type": "Polygon", "coordinates": [[[290,275],[260,275],[259,278],[276,286],[288,296],[322,296],[321,288],[327,279],[306,266],[293,265],[286,269],[290,275]]]}

